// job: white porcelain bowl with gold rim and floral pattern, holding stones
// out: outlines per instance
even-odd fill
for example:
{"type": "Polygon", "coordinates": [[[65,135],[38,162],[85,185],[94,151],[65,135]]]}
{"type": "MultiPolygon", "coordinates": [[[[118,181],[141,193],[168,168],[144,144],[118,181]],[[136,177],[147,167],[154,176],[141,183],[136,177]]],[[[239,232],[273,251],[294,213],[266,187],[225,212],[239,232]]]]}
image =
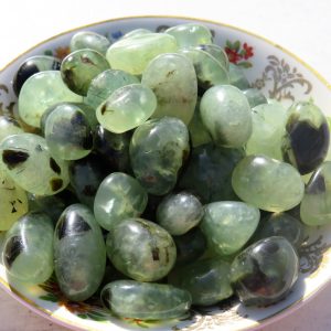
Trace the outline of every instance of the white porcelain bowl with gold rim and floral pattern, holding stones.
{"type": "MultiPolygon", "coordinates": [[[[70,52],[71,36],[79,30],[95,31],[106,35],[110,41],[116,41],[137,28],[162,31],[167,26],[196,21],[211,29],[215,43],[225,47],[229,61],[243,67],[250,84],[261,89],[267,97],[278,99],[287,106],[295,100],[312,98],[327,116],[331,116],[330,85],[290,52],[261,36],[227,24],[170,17],[109,20],[82,26],[40,43],[0,72],[0,111],[3,114],[17,111],[17,98],[11,81],[20,63],[38,54],[63,58],[70,52]]],[[[1,233],[0,244],[3,237],[4,234],[1,233]]],[[[245,308],[236,299],[231,299],[212,308],[193,308],[184,319],[162,323],[135,319],[119,320],[111,317],[97,298],[86,302],[70,302],[61,295],[54,278],[39,286],[9,281],[1,264],[0,284],[29,309],[74,330],[137,330],[137,327],[185,331],[220,330],[220,328],[252,330],[265,327],[299,309],[331,280],[331,227],[307,228],[305,243],[299,252],[299,280],[290,295],[277,305],[267,308],[245,308]]]]}

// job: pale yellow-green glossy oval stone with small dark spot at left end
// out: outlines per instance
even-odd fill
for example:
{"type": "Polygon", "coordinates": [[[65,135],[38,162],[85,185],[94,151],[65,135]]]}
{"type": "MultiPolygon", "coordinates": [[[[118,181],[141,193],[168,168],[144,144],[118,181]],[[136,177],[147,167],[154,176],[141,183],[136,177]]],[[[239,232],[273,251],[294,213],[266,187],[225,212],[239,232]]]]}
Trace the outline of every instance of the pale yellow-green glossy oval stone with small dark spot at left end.
{"type": "Polygon", "coordinates": [[[142,84],[117,88],[96,110],[99,124],[114,134],[142,125],[156,110],[153,92],[142,84]]]}

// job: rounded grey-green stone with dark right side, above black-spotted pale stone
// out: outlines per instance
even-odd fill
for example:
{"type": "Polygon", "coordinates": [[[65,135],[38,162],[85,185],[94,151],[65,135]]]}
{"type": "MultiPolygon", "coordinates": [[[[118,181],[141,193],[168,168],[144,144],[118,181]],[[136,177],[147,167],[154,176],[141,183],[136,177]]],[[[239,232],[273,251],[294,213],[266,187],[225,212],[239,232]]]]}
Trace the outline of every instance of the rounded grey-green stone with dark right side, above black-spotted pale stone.
{"type": "Polygon", "coordinates": [[[45,139],[51,153],[62,160],[78,160],[93,148],[92,128],[79,105],[58,105],[46,118],[45,139]]]}

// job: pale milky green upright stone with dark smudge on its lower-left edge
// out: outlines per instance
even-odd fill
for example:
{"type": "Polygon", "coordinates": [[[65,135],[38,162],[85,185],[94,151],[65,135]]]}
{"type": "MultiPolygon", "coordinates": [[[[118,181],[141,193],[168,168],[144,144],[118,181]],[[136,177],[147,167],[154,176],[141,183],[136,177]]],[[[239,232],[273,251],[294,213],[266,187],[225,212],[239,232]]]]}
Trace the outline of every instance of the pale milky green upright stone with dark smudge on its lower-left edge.
{"type": "Polygon", "coordinates": [[[201,119],[218,146],[241,147],[252,135],[252,110],[247,98],[231,85],[214,86],[202,97],[201,119]]]}

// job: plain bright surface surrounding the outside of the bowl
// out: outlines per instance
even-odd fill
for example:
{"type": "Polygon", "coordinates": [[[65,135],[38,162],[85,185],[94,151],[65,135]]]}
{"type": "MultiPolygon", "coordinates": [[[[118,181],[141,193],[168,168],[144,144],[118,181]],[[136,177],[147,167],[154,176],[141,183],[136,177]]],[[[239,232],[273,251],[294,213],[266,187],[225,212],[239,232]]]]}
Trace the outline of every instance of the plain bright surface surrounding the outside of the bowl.
{"type": "MultiPolygon", "coordinates": [[[[119,17],[162,14],[220,21],[264,35],[300,56],[331,82],[330,0],[1,0],[0,68],[63,31],[119,17]]],[[[264,331],[331,330],[331,286],[264,331]]],[[[0,330],[64,330],[0,290],[0,330]]]]}

